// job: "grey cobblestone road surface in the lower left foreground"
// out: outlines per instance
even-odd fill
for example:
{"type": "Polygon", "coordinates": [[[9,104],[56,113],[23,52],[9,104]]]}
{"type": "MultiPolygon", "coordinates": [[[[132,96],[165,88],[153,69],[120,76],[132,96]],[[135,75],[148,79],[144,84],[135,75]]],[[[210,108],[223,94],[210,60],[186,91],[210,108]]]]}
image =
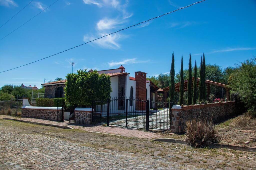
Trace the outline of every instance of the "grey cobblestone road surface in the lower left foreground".
{"type": "MultiPolygon", "coordinates": [[[[42,134],[0,126],[0,169],[164,169],[166,159],[95,149],[42,134]]],[[[173,168],[168,165],[168,168],[173,168]]]]}

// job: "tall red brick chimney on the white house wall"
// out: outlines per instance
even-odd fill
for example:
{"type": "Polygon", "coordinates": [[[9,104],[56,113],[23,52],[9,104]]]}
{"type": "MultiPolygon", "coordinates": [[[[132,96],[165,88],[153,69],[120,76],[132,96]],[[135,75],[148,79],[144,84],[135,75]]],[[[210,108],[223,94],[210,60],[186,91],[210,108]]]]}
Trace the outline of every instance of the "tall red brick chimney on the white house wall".
{"type": "MultiPolygon", "coordinates": [[[[136,94],[135,99],[146,100],[146,75],[147,73],[136,71],[135,81],[136,81],[136,94]]],[[[146,102],[136,101],[136,110],[145,110],[146,102]]]]}

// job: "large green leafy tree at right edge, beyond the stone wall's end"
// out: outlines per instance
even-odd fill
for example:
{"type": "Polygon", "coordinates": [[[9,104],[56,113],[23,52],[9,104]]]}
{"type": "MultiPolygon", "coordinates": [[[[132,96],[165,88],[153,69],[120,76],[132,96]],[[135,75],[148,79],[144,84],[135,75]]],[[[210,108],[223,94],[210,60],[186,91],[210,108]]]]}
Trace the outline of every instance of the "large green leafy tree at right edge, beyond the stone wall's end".
{"type": "Polygon", "coordinates": [[[256,113],[256,58],[246,60],[231,73],[228,81],[231,94],[238,93],[248,111],[256,113]]]}

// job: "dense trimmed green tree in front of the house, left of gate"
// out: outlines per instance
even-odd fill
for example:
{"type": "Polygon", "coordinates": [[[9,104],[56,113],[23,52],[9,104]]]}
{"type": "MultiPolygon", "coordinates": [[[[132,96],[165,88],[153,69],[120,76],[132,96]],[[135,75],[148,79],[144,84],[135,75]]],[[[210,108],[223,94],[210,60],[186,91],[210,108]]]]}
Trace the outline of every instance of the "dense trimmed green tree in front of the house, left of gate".
{"type": "Polygon", "coordinates": [[[92,101],[106,101],[110,98],[110,76],[94,70],[78,70],[68,73],[66,78],[65,99],[73,106],[91,106],[92,101]]]}

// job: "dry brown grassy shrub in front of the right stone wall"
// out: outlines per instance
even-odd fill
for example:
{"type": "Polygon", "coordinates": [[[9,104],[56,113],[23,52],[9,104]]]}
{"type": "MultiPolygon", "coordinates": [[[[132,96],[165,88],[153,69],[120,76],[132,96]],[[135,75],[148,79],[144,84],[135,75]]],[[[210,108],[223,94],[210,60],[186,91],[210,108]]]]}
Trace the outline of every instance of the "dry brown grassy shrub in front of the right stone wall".
{"type": "Polygon", "coordinates": [[[212,119],[199,116],[186,122],[186,141],[192,147],[205,147],[218,141],[212,119]]]}

